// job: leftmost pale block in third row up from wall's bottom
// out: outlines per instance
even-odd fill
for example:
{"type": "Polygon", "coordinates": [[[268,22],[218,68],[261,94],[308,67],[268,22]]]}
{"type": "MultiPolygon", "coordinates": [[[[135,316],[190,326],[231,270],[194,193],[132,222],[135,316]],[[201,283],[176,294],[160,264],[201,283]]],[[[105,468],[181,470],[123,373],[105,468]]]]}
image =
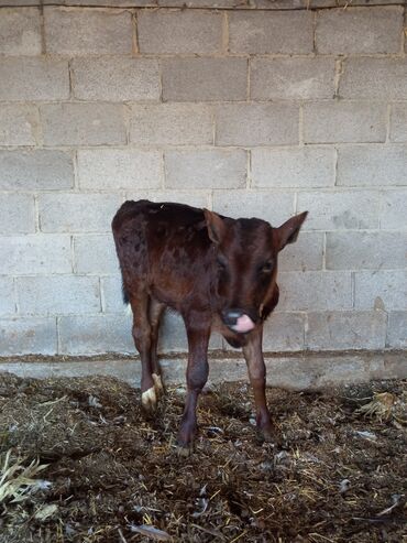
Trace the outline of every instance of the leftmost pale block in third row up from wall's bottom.
{"type": "Polygon", "coordinates": [[[0,237],[0,275],[70,273],[69,236],[0,237]]]}

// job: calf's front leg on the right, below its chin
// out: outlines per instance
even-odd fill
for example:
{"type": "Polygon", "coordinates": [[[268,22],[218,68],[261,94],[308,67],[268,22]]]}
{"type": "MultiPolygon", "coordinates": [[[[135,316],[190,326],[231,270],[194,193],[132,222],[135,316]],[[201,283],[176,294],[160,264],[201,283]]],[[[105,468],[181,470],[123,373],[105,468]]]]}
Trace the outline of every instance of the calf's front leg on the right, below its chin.
{"type": "Polygon", "coordinates": [[[243,355],[254,393],[257,430],[266,442],[274,442],[276,441],[276,430],[266,403],[266,367],[263,358],[262,344],[263,326],[260,326],[249,335],[248,343],[243,347],[243,355]]]}

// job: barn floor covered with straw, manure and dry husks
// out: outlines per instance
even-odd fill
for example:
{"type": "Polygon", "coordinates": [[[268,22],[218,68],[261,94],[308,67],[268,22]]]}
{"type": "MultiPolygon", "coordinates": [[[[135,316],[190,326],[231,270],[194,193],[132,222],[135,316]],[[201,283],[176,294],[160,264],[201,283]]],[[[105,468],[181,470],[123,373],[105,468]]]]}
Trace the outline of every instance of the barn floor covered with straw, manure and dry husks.
{"type": "Polygon", "coordinates": [[[114,378],[0,373],[0,542],[407,542],[407,381],[270,389],[279,446],[245,383],[216,387],[189,458],[183,394],[148,422],[114,378]]]}

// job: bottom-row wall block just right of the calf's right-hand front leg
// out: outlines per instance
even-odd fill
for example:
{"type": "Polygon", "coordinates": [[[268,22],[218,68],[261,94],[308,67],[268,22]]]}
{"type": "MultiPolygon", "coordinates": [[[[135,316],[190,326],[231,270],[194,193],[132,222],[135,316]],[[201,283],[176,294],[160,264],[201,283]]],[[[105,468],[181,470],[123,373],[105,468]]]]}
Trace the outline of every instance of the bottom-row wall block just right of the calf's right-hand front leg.
{"type": "Polygon", "coordinates": [[[304,313],[273,313],[264,324],[263,350],[284,352],[304,349],[304,313]]]}

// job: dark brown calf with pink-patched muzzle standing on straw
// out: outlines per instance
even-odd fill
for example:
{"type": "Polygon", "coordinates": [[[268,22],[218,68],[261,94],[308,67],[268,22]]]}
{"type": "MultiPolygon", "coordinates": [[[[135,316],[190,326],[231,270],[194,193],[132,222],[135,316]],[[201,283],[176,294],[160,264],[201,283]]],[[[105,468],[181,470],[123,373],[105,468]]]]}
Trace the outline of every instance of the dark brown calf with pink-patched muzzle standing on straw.
{"type": "Polygon", "coordinates": [[[257,428],[273,437],[265,399],[263,323],[278,303],[277,256],[293,243],[307,211],[279,228],[264,220],[231,219],[182,204],[125,202],[112,221],[133,312],[133,338],[142,361],[142,404],[153,412],[163,392],[157,360],[160,318],[166,306],[184,318],[188,337],[187,397],[178,433],[189,449],[198,395],[208,379],[208,343],[219,330],[242,347],[254,391],[257,428]]]}

